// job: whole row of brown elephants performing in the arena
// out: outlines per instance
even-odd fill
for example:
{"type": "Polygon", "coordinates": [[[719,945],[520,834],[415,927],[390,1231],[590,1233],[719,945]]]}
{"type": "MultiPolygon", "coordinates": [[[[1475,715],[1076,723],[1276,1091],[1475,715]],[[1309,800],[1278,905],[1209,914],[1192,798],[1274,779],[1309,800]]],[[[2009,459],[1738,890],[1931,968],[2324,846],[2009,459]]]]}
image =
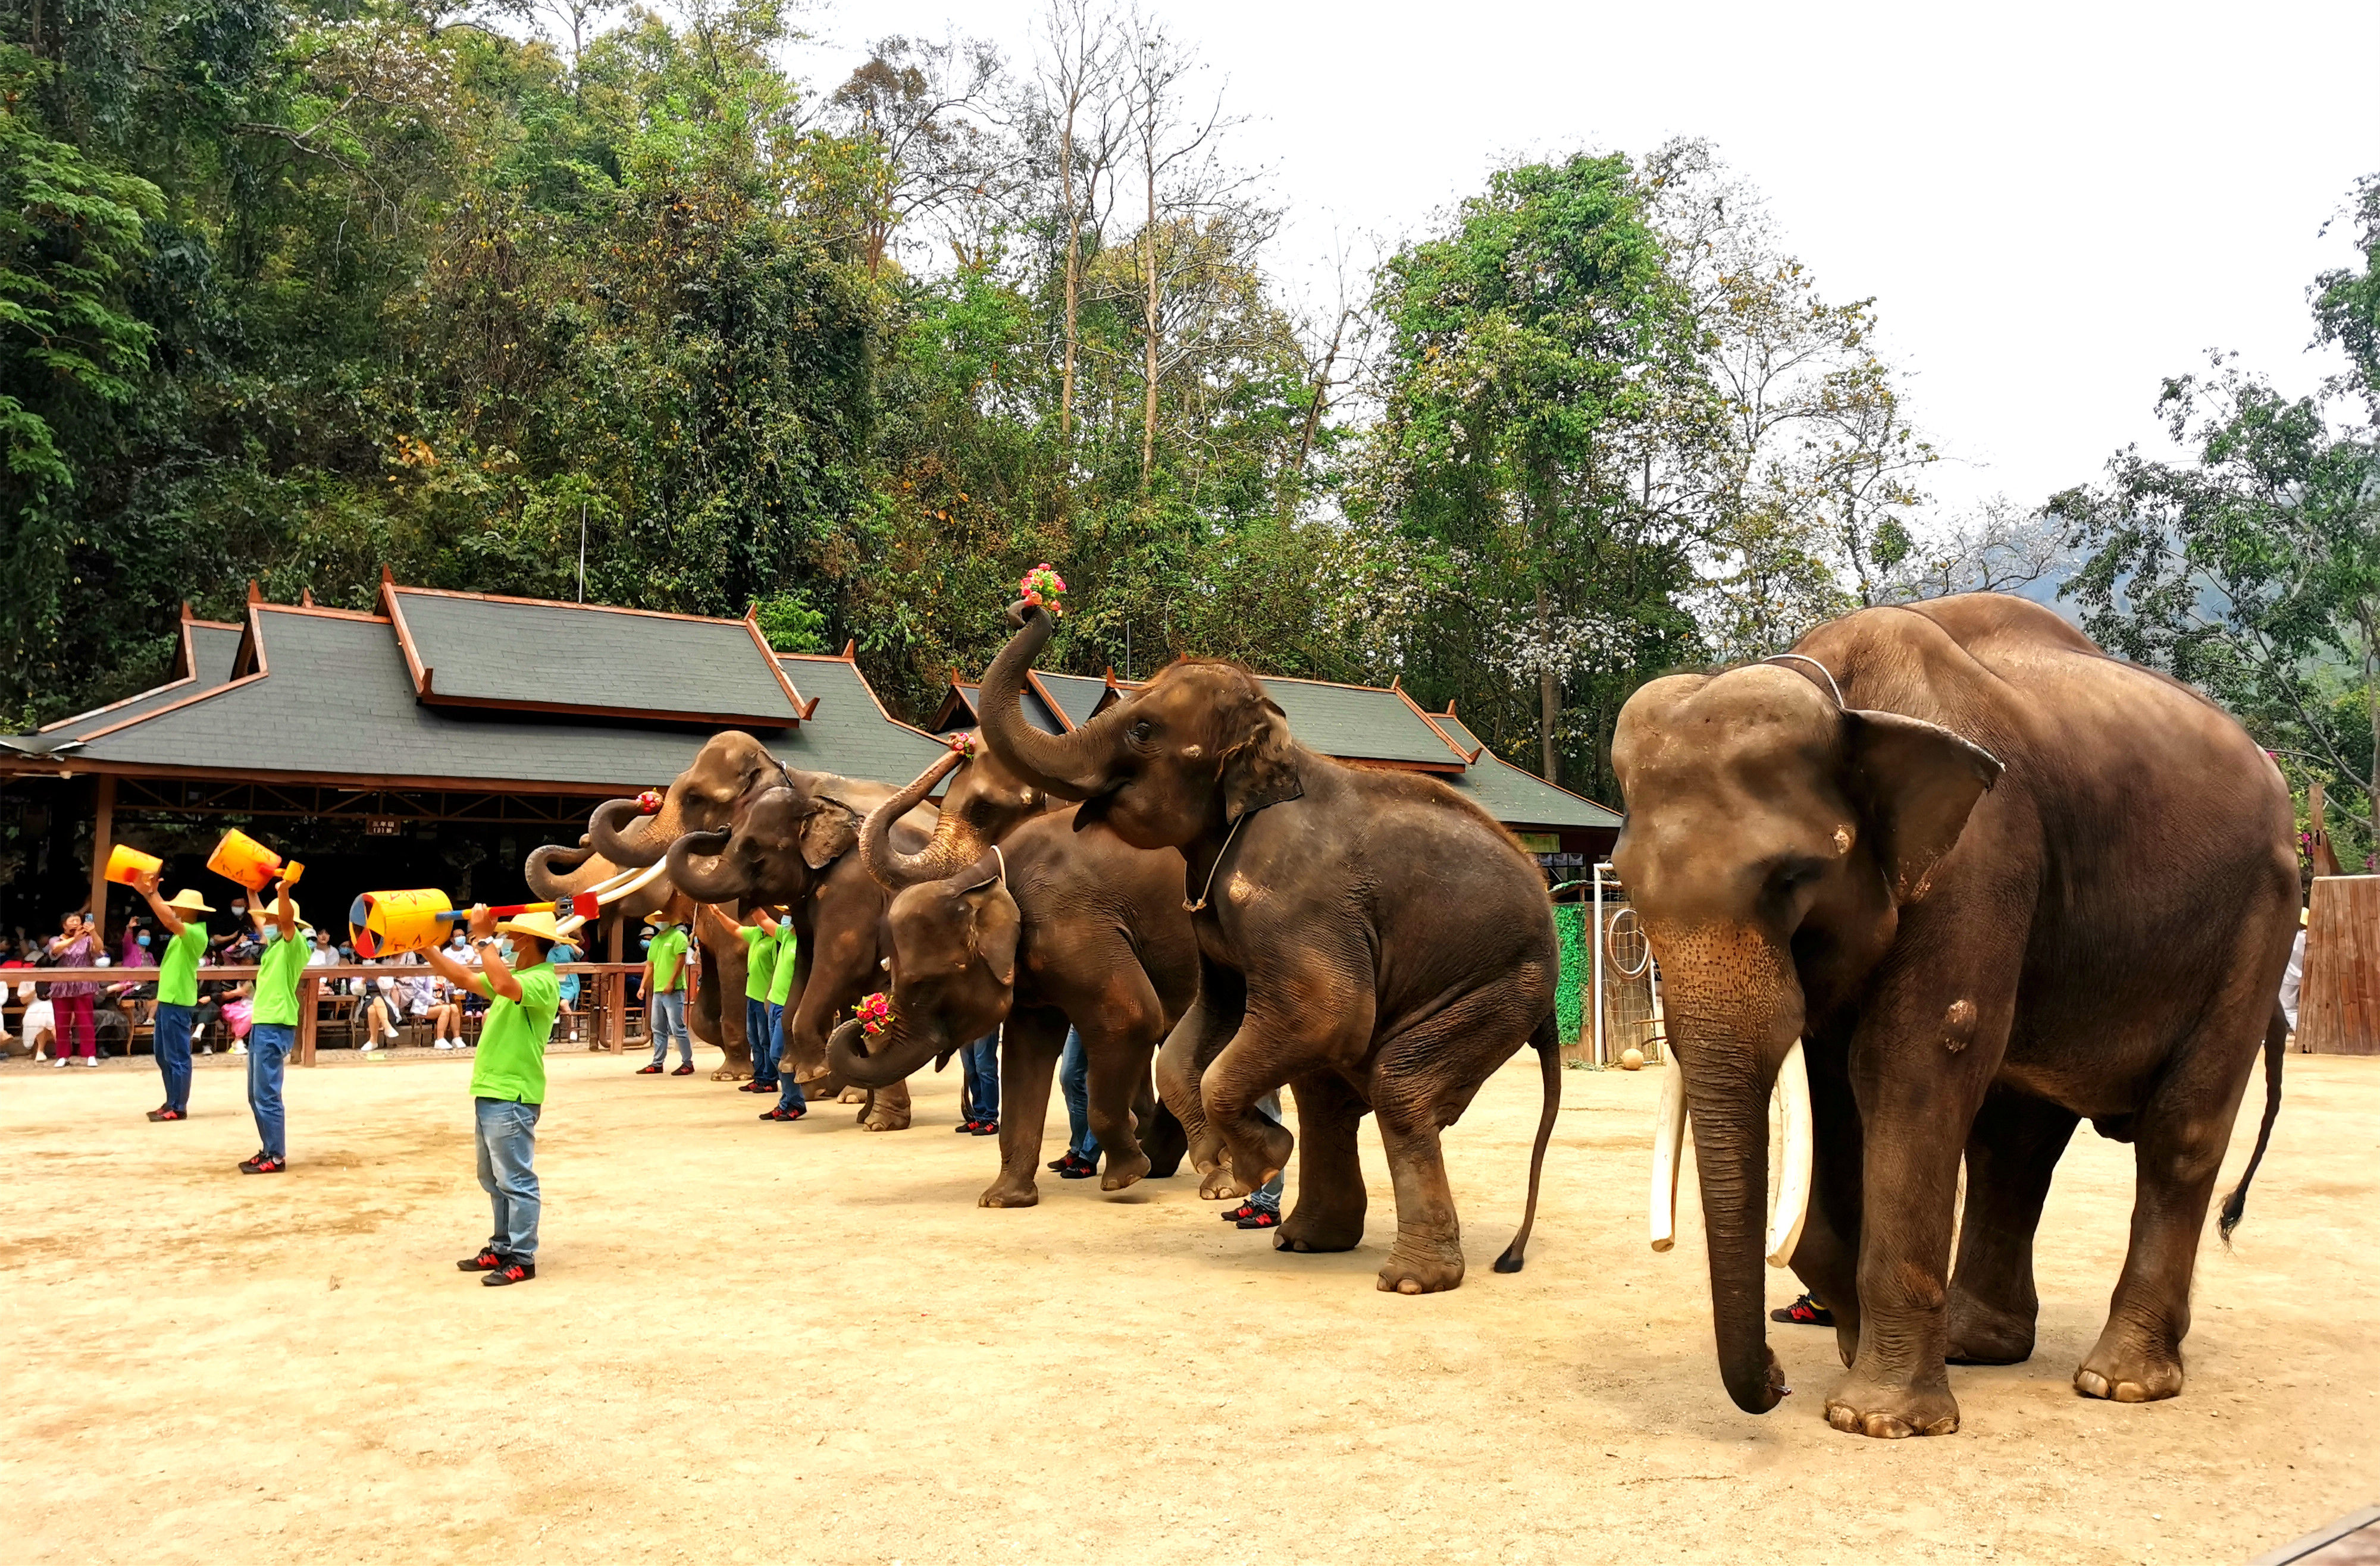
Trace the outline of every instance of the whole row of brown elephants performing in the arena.
{"type": "MultiPolygon", "coordinates": [[[[1183,1154],[1200,1195],[1254,1190],[1292,1147],[1257,1104],[1290,1088],[1285,1252],[1359,1245],[1371,1114],[1397,1204],[1380,1288],[1407,1295],[1461,1283],[1440,1133],[1533,1045],[1545,1114],[1497,1259],[1518,1271],[1561,1097],[1537,864],[1435,778],[1302,747],[1238,664],[1176,662],[1042,733],[1019,695],[1054,624],[1028,605],[1009,624],[981,731],[909,785],[788,769],[719,733],[659,809],[614,800],[576,850],[538,850],[533,885],[566,895],[666,859],[657,895],[785,909],[788,1069],[812,1097],[866,1090],[876,1130],[909,1123],[909,1073],[1000,1028],[1007,1116],[983,1207],[1035,1202],[1069,1026],[1104,1190],[1171,1176],[1183,1154]],[[852,1009],[876,990],[892,1014],[864,1033],[852,1009]]],[[[1611,764],[1628,804],[1614,864],[1678,1064],[1654,1245],[1692,1126],[1735,1404],[1759,1414],[1785,1392],[1766,1259],[1833,1307],[1847,1373],[1828,1423],[1956,1430],[1944,1366],[2033,1354],[2033,1233],[2082,1119],[2132,1145],[2137,1192],[2075,1388],[2180,1392],[2199,1238],[2259,1052],[2256,1159],[2278,1109],[2299,866],[2273,759],[2199,693],[2047,609],[1966,595],[1656,678],[1621,712],[1611,764]]],[[[740,990],[721,971],[735,957],[716,952],[714,992],[740,990]]],[[[733,1033],[724,1011],[712,1038],[733,1033]]],[[[2247,1176],[2225,1233],[2244,1192],[2247,1176]]]]}

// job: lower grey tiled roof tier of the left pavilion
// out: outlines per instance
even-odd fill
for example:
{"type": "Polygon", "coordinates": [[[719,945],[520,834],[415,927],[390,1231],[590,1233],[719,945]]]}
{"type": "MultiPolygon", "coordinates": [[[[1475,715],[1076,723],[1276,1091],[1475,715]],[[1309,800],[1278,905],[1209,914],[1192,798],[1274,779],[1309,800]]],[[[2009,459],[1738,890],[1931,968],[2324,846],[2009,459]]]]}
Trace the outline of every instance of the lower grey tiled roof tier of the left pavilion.
{"type": "MultiPolygon", "coordinates": [[[[264,678],[105,733],[74,750],[74,762],[633,793],[674,778],[707,738],[704,728],[431,707],[416,700],[388,621],[278,605],[257,605],[255,616],[264,678]]],[[[940,750],[890,721],[852,664],[783,662],[802,695],[819,697],[812,724],[762,735],[788,764],[907,783],[940,750]]],[[[526,688],[550,690],[552,676],[526,688]]]]}

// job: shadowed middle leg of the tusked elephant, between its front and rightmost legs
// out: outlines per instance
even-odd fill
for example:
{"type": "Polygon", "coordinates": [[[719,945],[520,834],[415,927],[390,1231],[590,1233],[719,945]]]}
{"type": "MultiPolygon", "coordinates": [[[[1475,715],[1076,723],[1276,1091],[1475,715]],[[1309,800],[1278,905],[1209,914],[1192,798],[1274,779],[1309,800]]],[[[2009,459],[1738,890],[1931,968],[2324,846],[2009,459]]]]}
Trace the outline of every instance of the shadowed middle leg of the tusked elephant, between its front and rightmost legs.
{"type": "Polygon", "coordinates": [[[1966,1216],[1949,1276],[1949,1364],[2033,1359],[2033,1230],[2042,1223],[2049,1176],[2078,1116],[2021,1092],[1997,1090],[1966,1138],[1966,1216]]]}

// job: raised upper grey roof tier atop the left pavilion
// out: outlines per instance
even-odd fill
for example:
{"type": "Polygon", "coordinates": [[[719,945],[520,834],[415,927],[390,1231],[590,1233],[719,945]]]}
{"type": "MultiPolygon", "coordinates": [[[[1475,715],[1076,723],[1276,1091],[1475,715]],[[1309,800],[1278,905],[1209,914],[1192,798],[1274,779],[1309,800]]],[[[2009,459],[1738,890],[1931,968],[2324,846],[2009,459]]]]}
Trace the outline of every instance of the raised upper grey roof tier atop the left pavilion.
{"type": "MultiPolygon", "coordinates": [[[[731,726],[790,726],[802,716],[743,621],[424,588],[390,588],[386,597],[431,671],[431,700],[533,697],[588,714],[671,712],[731,726]],[[581,690],[524,690],[519,669],[557,652],[583,669],[602,669],[602,681],[581,690]]],[[[809,695],[802,690],[804,700],[809,695]]]]}

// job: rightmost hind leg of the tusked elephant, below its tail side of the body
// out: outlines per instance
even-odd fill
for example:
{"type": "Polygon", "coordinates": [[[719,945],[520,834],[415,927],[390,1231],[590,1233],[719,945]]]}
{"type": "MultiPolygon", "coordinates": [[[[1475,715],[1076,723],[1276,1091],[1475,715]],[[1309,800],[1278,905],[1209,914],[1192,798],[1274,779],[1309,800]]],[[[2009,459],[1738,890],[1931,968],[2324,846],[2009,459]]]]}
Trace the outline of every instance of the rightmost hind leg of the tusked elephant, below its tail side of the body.
{"type": "Polygon", "coordinates": [[[2099,1342],[2075,1368],[2075,1390],[2085,1397],[2156,1402],[2182,1390],[2190,1278],[2240,1095],[2273,1011],[2263,988],[2213,1009],[2137,1116],[2132,1242],[2099,1342]]]}

